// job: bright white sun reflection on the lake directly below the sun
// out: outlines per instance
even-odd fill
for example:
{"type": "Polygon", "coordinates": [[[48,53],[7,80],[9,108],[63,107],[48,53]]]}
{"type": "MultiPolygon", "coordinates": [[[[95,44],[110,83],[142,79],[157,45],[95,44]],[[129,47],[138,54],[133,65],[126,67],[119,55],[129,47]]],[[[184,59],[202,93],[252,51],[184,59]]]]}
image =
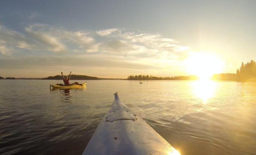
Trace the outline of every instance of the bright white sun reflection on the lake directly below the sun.
{"type": "Polygon", "coordinates": [[[214,97],[216,90],[216,82],[212,80],[198,80],[192,84],[192,91],[194,95],[200,98],[204,104],[208,99],[214,97]]]}

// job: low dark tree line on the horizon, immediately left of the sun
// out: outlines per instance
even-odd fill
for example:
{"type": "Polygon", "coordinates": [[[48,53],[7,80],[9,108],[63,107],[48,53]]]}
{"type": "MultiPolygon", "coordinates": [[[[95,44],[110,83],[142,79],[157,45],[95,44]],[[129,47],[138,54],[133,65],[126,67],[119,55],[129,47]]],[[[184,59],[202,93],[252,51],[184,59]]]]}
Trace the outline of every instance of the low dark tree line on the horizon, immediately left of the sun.
{"type": "Polygon", "coordinates": [[[197,80],[194,75],[191,76],[172,76],[172,77],[156,77],[152,75],[130,75],[127,80],[197,80]]]}

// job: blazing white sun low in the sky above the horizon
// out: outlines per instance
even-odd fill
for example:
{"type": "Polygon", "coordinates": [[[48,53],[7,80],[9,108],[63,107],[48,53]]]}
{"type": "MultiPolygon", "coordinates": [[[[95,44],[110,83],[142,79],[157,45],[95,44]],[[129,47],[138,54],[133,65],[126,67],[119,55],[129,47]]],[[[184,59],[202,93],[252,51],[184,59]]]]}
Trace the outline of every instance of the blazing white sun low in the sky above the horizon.
{"type": "Polygon", "coordinates": [[[210,53],[192,53],[185,60],[187,72],[196,75],[200,80],[209,80],[213,74],[222,72],[223,62],[210,53]]]}

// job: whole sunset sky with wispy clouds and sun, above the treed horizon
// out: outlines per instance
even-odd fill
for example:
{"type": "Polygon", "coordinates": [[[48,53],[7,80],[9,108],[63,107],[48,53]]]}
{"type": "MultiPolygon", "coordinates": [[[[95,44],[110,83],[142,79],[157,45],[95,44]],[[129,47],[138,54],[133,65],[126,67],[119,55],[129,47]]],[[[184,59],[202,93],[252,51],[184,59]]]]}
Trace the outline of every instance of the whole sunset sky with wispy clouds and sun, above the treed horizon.
{"type": "Polygon", "coordinates": [[[1,1],[0,76],[236,73],[256,60],[255,7],[253,0],[1,1]]]}

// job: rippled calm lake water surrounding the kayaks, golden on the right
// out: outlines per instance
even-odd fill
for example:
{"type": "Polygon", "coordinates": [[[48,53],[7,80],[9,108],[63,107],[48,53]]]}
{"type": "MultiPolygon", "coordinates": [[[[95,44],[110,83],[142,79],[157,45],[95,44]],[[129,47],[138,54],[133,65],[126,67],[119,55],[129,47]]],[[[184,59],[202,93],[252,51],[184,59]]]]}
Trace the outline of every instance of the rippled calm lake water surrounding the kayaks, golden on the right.
{"type": "Polygon", "coordinates": [[[256,152],[256,83],[87,82],[0,80],[0,154],[82,154],[115,92],[183,155],[256,152]]]}

